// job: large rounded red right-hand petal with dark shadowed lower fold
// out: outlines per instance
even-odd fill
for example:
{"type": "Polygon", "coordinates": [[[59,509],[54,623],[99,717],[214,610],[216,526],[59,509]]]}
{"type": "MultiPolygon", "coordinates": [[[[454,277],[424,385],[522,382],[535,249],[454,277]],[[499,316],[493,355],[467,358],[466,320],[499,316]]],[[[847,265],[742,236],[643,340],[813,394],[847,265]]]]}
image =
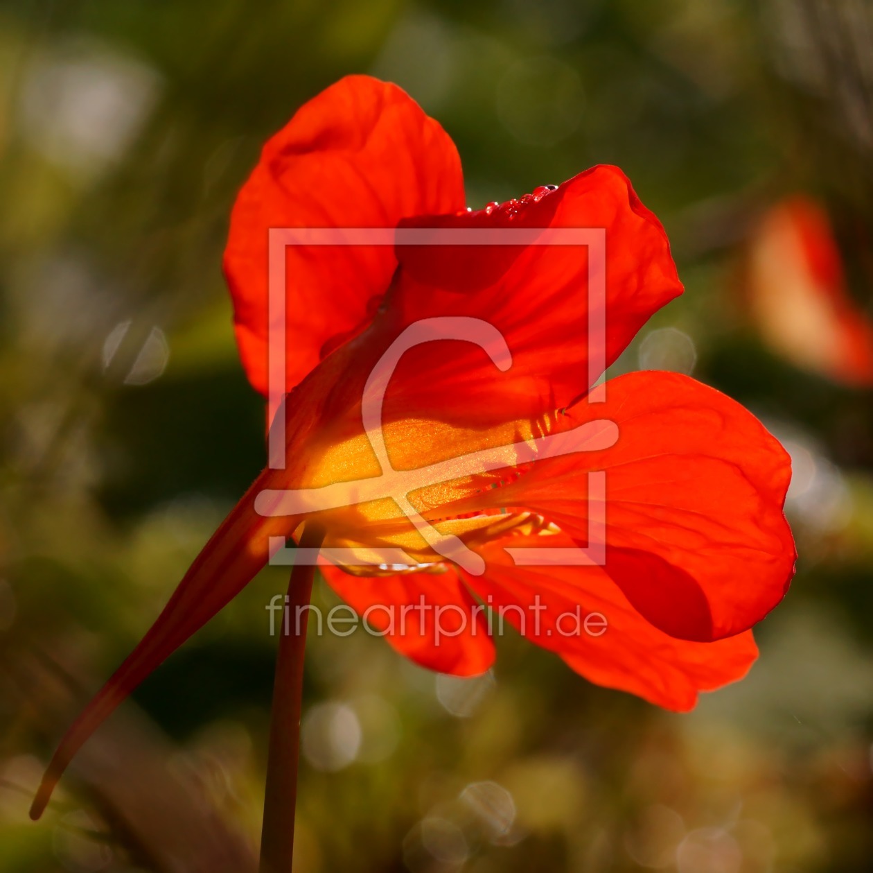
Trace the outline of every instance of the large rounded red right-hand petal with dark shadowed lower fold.
{"type": "Polygon", "coordinates": [[[615,446],[535,461],[477,505],[533,509],[581,544],[605,511],[605,571],[653,625],[696,641],[752,627],[794,575],[787,453],[750,412],[691,378],[630,373],[605,388],[605,402],[575,405],[566,426],[608,419],[615,446]],[[592,471],[605,473],[605,508],[596,494],[588,501],[592,471]]]}

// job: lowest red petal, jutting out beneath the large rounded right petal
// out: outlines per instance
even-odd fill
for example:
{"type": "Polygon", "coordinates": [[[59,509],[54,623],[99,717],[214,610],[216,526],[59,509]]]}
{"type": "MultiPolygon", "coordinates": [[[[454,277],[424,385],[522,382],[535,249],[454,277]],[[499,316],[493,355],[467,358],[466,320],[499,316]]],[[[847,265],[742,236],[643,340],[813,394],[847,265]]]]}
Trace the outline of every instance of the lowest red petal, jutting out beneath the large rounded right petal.
{"type": "MultiPolygon", "coordinates": [[[[542,537],[507,538],[483,551],[485,576],[466,582],[527,640],[555,652],[581,676],[669,710],[691,710],[699,691],[746,675],[758,649],[751,632],[729,640],[677,640],[636,612],[600,567],[513,566],[502,546],[542,546],[542,537]]],[[[555,544],[565,545],[564,537],[555,544]]]]}

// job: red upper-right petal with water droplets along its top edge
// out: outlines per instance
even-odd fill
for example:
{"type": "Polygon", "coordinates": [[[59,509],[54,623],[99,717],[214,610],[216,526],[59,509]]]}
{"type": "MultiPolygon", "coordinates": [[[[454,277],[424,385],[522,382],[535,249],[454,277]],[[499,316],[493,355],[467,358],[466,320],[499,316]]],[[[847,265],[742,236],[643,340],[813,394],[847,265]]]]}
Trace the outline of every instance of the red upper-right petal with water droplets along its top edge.
{"type": "Polygon", "coordinates": [[[498,373],[470,342],[419,345],[397,367],[388,419],[402,412],[493,426],[553,412],[588,391],[650,316],[682,292],[663,227],[615,167],[595,167],[490,214],[410,224],[594,233],[584,245],[565,235],[560,244],[398,246],[401,271],[374,328],[396,336],[423,319],[480,319],[503,337],[512,366],[498,373]]]}

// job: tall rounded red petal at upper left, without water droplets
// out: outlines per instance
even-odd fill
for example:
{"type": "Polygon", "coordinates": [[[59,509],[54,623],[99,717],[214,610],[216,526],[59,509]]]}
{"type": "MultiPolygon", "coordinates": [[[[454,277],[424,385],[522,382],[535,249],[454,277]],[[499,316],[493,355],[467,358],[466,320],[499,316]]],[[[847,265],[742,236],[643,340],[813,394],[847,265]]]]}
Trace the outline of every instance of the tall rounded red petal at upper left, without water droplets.
{"type": "MultiPolygon", "coordinates": [[[[266,143],[230,218],[224,272],[251,384],[266,394],[271,228],[394,228],[464,209],[457,149],[399,87],[349,76],[266,143]]],[[[390,246],[288,246],[285,391],[366,326],[395,271],[390,246]]]]}

